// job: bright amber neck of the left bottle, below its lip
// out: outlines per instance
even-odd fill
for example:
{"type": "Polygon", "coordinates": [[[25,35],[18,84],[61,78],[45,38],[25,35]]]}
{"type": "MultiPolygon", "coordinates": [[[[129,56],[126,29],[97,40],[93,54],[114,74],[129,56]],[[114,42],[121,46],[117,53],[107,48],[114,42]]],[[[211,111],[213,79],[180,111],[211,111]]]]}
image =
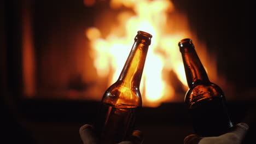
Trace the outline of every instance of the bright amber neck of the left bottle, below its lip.
{"type": "Polygon", "coordinates": [[[135,41],[121,71],[118,82],[130,88],[139,88],[149,45],[135,41]]]}

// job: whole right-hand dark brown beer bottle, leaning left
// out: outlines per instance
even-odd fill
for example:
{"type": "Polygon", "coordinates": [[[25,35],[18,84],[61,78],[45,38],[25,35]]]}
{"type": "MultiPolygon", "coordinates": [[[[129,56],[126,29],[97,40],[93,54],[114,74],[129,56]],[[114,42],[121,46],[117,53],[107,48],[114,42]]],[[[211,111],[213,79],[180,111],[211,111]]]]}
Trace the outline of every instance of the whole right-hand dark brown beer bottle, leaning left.
{"type": "Polygon", "coordinates": [[[183,39],[178,45],[189,86],[185,105],[188,106],[195,133],[200,136],[226,133],[232,127],[232,122],[222,89],[208,79],[192,40],[183,39]]]}

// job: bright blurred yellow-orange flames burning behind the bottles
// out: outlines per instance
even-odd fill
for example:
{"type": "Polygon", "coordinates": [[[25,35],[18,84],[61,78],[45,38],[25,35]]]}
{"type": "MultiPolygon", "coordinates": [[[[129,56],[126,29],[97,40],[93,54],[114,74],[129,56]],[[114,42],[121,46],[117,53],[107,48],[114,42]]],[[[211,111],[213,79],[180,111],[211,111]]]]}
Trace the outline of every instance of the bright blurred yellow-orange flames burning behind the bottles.
{"type": "Polygon", "coordinates": [[[126,7],[131,10],[123,10],[118,14],[118,22],[113,23],[114,27],[104,39],[100,28],[86,29],[98,76],[110,77],[109,85],[115,82],[129,55],[135,34],[137,31],[145,31],[152,34],[153,38],[140,87],[143,105],[158,106],[162,101],[174,99],[175,91],[170,80],[166,79],[166,71],[174,71],[183,83],[184,91],[187,91],[182,57],[177,45],[183,38],[196,41],[190,33],[187,17],[175,13],[174,5],[169,0],[113,0],[110,1],[110,7],[126,7]]]}

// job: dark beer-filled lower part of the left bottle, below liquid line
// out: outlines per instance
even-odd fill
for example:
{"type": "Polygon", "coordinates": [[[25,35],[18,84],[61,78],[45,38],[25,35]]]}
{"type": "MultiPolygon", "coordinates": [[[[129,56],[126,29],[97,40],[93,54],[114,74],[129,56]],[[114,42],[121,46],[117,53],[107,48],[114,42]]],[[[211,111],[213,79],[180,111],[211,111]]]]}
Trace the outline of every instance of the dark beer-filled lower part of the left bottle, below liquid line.
{"type": "Polygon", "coordinates": [[[99,108],[95,128],[100,143],[119,143],[129,139],[140,107],[117,109],[111,105],[101,104],[99,108]]]}

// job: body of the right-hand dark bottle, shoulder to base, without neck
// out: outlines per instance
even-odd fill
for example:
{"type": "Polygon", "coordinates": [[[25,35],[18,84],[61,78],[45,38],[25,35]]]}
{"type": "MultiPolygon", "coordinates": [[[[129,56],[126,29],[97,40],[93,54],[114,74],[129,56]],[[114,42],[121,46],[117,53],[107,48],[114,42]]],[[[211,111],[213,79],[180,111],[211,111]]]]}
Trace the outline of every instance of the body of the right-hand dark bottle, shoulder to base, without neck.
{"type": "Polygon", "coordinates": [[[197,135],[219,136],[232,127],[224,94],[216,84],[206,83],[190,88],[185,103],[197,135]]]}

